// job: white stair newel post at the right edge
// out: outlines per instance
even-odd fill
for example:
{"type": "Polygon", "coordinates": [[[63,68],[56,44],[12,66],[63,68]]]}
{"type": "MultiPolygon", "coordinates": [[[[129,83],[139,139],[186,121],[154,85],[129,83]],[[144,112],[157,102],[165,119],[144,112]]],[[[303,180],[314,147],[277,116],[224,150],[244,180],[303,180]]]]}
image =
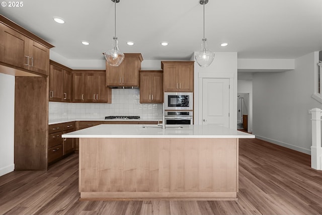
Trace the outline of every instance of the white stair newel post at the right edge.
{"type": "Polygon", "coordinates": [[[321,148],[321,116],[322,110],[313,108],[312,114],[312,146],[311,146],[311,168],[322,170],[322,148],[321,148]]]}

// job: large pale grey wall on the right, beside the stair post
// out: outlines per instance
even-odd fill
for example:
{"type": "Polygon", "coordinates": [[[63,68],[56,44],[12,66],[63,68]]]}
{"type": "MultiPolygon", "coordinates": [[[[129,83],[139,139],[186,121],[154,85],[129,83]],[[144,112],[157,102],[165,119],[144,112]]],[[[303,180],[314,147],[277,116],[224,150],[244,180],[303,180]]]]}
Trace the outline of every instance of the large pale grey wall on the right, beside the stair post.
{"type": "Polygon", "coordinates": [[[295,59],[295,69],[253,76],[253,133],[257,138],[310,154],[311,98],[318,52],[295,59]]]}

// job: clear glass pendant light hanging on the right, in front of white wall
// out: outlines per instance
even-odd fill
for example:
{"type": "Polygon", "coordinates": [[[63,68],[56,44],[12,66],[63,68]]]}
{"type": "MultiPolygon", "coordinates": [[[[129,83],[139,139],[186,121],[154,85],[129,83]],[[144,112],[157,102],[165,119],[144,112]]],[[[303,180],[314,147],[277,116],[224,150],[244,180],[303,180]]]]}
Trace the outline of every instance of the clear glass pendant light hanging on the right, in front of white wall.
{"type": "Polygon", "coordinates": [[[207,38],[205,37],[205,5],[208,3],[208,0],[200,0],[199,3],[203,5],[203,38],[201,44],[202,50],[195,53],[195,59],[201,67],[208,67],[215,57],[215,52],[207,48],[207,38]]]}

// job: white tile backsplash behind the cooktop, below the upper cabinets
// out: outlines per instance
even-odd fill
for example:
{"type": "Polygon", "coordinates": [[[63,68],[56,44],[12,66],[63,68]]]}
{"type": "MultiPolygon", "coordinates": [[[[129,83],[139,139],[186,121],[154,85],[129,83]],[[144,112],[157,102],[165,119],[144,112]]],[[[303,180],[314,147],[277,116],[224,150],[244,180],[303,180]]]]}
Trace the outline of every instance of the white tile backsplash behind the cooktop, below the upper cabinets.
{"type": "Polygon", "coordinates": [[[140,104],[139,96],[139,89],[112,89],[112,104],[49,102],[49,120],[115,115],[162,119],[162,104],[140,104]]]}

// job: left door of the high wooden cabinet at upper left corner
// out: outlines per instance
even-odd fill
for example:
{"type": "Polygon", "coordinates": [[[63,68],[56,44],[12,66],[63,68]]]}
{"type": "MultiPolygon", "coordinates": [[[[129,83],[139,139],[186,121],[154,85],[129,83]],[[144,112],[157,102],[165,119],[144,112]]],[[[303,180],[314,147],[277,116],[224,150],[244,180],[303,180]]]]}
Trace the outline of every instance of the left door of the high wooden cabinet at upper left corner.
{"type": "Polygon", "coordinates": [[[28,68],[29,38],[0,23],[0,61],[28,68]]]}

